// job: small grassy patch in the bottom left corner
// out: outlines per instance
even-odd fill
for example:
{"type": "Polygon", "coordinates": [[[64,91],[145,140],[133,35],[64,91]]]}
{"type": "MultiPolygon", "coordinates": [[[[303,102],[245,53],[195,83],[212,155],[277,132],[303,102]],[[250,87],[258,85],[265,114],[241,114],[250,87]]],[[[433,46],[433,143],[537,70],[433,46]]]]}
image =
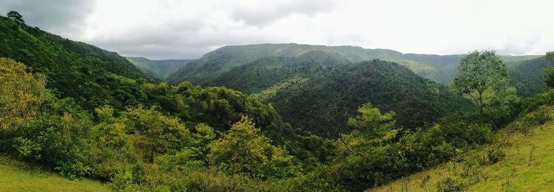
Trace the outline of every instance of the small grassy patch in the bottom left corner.
{"type": "Polygon", "coordinates": [[[0,191],[113,191],[101,182],[67,180],[0,154],[0,191]]]}

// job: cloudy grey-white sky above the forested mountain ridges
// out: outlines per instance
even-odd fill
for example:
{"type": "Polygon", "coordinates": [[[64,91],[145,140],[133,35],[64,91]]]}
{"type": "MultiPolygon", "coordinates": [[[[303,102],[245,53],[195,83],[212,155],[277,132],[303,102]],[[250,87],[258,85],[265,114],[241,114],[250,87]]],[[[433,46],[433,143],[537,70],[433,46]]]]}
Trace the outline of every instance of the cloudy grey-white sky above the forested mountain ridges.
{"type": "Polygon", "coordinates": [[[0,0],[30,26],[120,55],[195,59],[227,45],[316,44],[404,53],[543,55],[550,0],[0,0]]]}

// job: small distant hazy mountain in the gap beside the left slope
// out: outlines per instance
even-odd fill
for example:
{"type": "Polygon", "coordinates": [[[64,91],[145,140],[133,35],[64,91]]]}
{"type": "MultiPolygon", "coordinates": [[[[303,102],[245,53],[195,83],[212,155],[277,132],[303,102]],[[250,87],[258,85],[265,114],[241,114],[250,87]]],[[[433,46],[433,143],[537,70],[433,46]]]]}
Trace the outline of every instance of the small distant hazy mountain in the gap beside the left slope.
{"type": "Polygon", "coordinates": [[[166,60],[150,60],[145,57],[125,57],[136,68],[139,68],[148,77],[157,79],[166,79],[172,73],[179,70],[190,61],[195,59],[166,59],[166,60]]]}

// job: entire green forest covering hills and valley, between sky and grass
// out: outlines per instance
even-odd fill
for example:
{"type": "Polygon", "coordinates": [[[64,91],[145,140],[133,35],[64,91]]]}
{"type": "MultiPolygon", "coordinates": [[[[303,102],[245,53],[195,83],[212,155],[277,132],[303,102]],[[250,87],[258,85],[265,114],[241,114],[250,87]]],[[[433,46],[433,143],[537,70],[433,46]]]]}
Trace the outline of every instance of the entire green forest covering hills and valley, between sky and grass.
{"type": "Polygon", "coordinates": [[[116,191],[371,191],[451,162],[463,171],[425,189],[462,191],[505,160],[506,133],[554,120],[554,52],[264,44],[151,61],[7,16],[0,156],[116,191]]]}

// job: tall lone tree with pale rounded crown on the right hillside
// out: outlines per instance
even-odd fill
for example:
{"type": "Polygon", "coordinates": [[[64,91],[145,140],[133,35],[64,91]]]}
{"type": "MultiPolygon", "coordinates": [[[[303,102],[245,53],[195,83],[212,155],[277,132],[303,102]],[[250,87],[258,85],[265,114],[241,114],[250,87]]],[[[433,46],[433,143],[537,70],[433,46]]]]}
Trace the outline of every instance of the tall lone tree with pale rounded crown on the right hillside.
{"type": "Polygon", "coordinates": [[[508,82],[506,65],[494,50],[483,50],[470,52],[462,58],[460,73],[452,81],[454,91],[459,95],[471,97],[483,113],[483,103],[488,95],[501,90],[508,82]]]}

